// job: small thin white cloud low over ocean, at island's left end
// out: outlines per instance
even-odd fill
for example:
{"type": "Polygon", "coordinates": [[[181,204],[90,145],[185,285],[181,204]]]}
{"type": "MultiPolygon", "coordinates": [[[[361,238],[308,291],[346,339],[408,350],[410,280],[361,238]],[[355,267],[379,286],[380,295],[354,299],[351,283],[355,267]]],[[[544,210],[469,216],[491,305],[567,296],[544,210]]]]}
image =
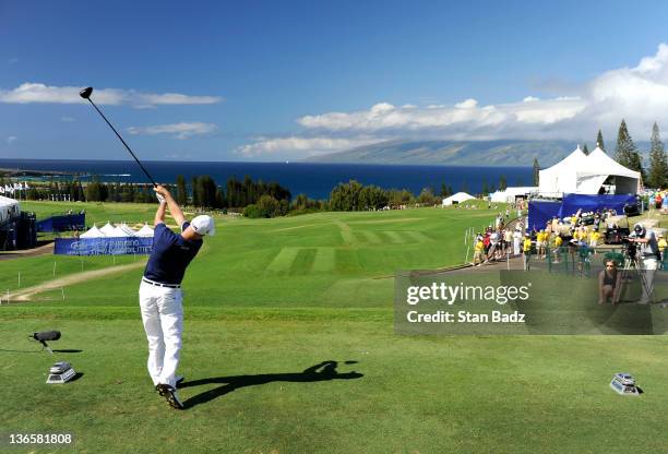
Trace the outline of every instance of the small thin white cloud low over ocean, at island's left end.
{"type": "Polygon", "coordinates": [[[255,143],[237,148],[237,153],[247,157],[260,155],[314,156],[323,153],[334,153],[356,146],[378,142],[373,138],[335,139],[335,138],[258,138],[255,143]]]}

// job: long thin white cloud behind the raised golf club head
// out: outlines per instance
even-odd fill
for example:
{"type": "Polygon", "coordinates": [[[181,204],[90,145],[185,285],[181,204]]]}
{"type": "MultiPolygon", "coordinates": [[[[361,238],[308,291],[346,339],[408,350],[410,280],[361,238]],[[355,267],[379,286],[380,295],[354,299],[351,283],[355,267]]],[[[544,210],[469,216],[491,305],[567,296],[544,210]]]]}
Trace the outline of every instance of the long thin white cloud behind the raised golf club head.
{"type": "MultiPolygon", "coordinates": [[[[24,83],[13,89],[0,89],[0,103],[31,104],[80,104],[83,99],[79,92],[83,87],[49,86],[39,83],[24,83]]],[[[136,108],[158,105],[216,104],[223,100],[218,96],[189,96],[179,93],[141,93],[134,89],[102,88],[93,92],[95,104],[130,105],[136,108]]]]}

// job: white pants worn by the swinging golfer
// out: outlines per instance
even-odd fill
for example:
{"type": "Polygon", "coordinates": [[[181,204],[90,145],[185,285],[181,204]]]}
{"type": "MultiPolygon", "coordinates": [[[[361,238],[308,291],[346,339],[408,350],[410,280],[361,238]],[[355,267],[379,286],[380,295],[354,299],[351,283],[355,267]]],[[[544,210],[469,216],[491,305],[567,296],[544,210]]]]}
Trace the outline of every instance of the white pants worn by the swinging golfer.
{"type": "Polygon", "coordinates": [[[158,287],[142,280],[140,307],[148,340],[148,373],[153,384],[176,386],[181,333],[183,332],[183,294],[180,288],[158,287]]]}

